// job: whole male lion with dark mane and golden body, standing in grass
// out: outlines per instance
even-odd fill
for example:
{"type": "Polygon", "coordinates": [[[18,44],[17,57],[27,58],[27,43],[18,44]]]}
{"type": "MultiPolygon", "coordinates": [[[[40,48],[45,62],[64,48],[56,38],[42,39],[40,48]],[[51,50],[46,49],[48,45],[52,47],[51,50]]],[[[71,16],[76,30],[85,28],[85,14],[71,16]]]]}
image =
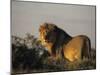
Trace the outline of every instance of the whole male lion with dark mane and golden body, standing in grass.
{"type": "Polygon", "coordinates": [[[90,58],[91,43],[85,35],[71,37],[52,23],[41,24],[39,33],[39,40],[54,58],[60,56],[70,62],[90,58]]]}

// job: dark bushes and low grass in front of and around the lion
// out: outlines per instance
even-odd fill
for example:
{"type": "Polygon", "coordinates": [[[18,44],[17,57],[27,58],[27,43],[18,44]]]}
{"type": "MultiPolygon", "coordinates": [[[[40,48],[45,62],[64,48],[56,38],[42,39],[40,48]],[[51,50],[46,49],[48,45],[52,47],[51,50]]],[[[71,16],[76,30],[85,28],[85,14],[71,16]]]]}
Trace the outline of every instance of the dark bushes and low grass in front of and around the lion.
{"type": "Polygon", "coordinates": [[[31,34],[25,38],[12,36],[12,73],[34,73],[96,68],[95,50],[91,50],[91,60],[71,63],[64,59],[53,60],[47,50],[31,34]]]}

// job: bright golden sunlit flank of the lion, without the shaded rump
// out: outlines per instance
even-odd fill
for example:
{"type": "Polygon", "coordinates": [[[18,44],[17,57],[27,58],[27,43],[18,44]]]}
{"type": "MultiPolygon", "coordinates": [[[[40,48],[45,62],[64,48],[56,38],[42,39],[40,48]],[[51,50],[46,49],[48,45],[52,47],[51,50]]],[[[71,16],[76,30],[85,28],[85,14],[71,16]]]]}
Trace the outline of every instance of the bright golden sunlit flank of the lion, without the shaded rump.
{"type": "Polygon", "coordinates": [[[81,39],[80,37],[74,37],[71,41],[69,41],[69,43],[64,45],[64,57],[71,62],[80,60],[82,45],[83,39],[81,39]]]}

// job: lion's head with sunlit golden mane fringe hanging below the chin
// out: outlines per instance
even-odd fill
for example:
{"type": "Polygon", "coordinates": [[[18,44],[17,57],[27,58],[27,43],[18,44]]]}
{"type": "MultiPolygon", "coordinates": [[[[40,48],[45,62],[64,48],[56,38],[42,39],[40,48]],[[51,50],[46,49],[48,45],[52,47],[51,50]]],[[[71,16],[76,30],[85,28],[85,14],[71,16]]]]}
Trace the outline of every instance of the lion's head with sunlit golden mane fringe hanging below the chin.
{"type": "Polygon", "coordinates": [[[51,23],[43,23],[39,28],[39,40],[51,53],[51,48],[56,41],[57,26],[51,23]]]}

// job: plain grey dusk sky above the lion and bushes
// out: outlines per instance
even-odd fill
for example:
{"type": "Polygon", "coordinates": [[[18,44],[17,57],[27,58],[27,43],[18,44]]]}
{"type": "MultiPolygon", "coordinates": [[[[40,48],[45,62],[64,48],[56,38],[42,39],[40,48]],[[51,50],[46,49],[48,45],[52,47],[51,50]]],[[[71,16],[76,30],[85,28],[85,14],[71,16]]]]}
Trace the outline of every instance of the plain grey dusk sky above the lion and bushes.
{"type": "Polygon", "coordinates": [[[12,2],[12,35],[39,35],[39,26],[54,23],[71,36],[87,35],[95,48],[95,6],[12,2]]]}

